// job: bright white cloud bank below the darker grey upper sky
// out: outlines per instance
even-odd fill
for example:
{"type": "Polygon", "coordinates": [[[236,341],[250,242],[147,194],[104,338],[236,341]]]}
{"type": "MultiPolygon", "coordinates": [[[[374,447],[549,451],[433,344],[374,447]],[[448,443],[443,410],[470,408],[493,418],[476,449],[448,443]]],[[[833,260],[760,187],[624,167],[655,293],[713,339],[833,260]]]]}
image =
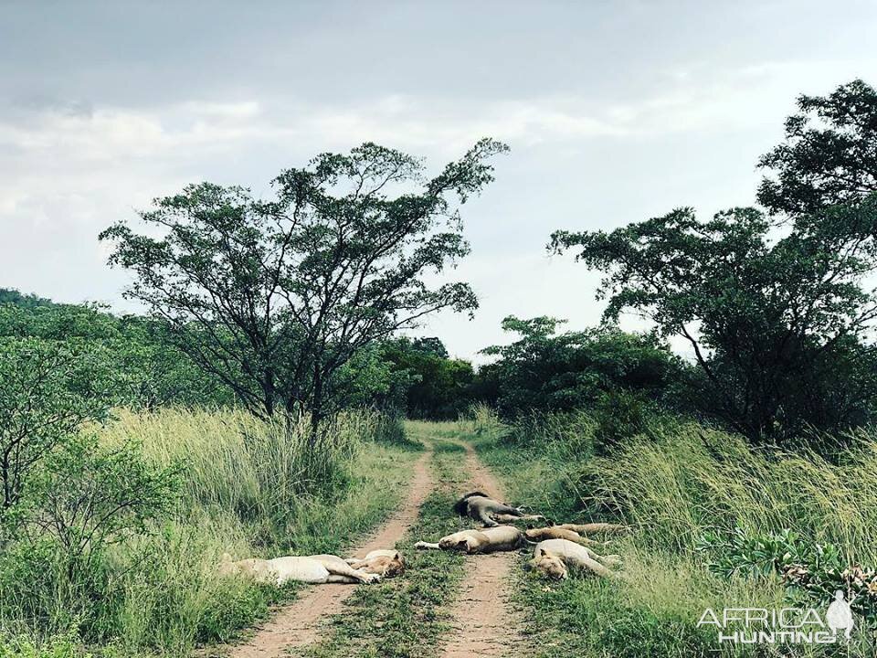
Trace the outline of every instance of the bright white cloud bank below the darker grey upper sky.
{"type": "Polygon", "coordinates": [[[739,150],[738,134],[753,133],[766,134],[769,144],[798,92],[829,90],[845,81],[839,70],[856,68],[846,61],[725,69],[692,63],[660,72],[660,84],[624,99],[606,91],[478,98],[428,91],[316,101],[269,90],[128,106],[27,97],[0,109],[0,281],[62,301],[118,302],[125,277],[106,268],[97,233],[133,218],[154,196],[205,179],[267,194],[283,166],[366,140],[425,155],[438,166],[491,135],[512,143],[514,171],[498,179],[507,196],[491,196],[493,205],[480,211],[481,225],[473,222],[471,232],[480,231],[481,241],[473,240],[475,252],[453,273],[482,293],[477,329],[454,319],[437,321],[435,330],[470,355],[496,342],[502,316],[512,311],[568,317],[573,328],[596,322],[596,277],[541,255],[551,228],[575,224],[583,207],[613,222],[618,205],[639,212],[646,201],[677,203],[692,186],[710,196],[750,189],[746,176],[758,152],[739,156],[750,168],[732,180],[705,173],[722,157],[713,145],[727,156],[739,150]],[[687,144],[691,164],[672,150],[678,143],[687,144]],[[656,166],[673,174],[664,170],[655,181],[656,166]],[[619,204],[629,190],[644,200],[631,196],[619,204]],[[515,235],[497,246],[508,226],[515,235]]]}

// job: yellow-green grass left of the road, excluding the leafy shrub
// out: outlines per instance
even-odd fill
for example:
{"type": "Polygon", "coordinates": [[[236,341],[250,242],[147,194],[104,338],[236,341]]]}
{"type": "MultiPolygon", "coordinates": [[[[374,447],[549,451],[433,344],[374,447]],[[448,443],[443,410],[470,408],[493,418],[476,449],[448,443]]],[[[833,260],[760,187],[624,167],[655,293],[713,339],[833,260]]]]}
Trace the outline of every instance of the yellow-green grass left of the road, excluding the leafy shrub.
{"type": "Polygon", "coordinates": [[[295,588],[219,578],[223,552],[341,552],[396,506],[417,456],[417,446],[370,414],[344,416],[319,452],[308,450],[303,428],[232,410],[122,410],[91,430],[107,443],[137,441],[157,465],[182,463],[179,504],[149,532],[102,554],[93,582],[77,584],[76,600],[57,596],[51,559],[37,560],[24,543],[16,560],[7,551],[8,559],[0,557],[0,635],[7,636],[0,655],[14,642],[35,652],[60,646],[40,636],[70,632],[108,657],[184,656],[196,644],[225,642],[271,604],[293,598],[295,588]]]}

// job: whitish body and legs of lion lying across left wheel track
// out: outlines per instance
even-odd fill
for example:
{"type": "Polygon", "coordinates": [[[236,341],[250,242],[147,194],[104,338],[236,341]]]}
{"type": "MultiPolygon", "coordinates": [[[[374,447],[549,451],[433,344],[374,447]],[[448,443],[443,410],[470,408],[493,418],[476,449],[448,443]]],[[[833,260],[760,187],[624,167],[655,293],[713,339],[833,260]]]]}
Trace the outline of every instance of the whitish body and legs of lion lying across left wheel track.
{"type": "Polygon", "coordinates": [[[219,564],[219,573],[242,574],[256,582],[278,587],[293,580],[312,584],[370,583],[381,578],[376,573],[354,569],[341,557],[331,555],[286,556],[268,560],[251,557],[236,562],[225,553],[219,564]]]}

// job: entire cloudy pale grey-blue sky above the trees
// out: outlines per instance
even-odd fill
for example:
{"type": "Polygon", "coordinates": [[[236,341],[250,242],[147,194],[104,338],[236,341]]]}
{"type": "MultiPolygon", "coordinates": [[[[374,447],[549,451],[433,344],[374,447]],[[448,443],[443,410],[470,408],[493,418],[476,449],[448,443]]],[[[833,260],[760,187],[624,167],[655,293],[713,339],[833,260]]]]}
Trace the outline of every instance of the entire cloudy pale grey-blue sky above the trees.
{"type": "Polygon", "coordinates": [[[481,360],[509,314],[599,322],[599,273],[553,230],[753,204],[798,94],[877,84],[875,30],[865,1],[0,0],[0,287],[131,311],[97,235],[156,196],[269,196],[365,141],[438,172],[491,136],[511,152],[449,271],[481,307],[417,331],[481,360]]]}

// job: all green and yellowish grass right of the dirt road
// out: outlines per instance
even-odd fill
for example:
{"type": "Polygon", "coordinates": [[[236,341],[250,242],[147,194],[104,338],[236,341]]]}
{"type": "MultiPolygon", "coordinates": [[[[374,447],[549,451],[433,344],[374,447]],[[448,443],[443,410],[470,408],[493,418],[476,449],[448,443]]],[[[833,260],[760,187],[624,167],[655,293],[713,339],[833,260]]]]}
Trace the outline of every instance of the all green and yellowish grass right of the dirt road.
{"type": "Polygon", "coordinates": [[[836,542],[851,564],[873,564],[877,441],[860,437],[834,464],[808,451],[754,451],[737,437],[660,419],[594,457],[586,414],[503,427],[482,412],[470,422],[481,459],[515,503],[556,522],[616,518],[636,528],[605,551],[623,557],[624,581],[576,575],[555,583],[519,571],[534,657],[877,654],[867,633],[849,647],[720,647],[714,628],[697,626],[703,610],[779,609],[786,591],[776,576],[716,575],[695,550],[709,531],[790,527],[836,542]]]}

